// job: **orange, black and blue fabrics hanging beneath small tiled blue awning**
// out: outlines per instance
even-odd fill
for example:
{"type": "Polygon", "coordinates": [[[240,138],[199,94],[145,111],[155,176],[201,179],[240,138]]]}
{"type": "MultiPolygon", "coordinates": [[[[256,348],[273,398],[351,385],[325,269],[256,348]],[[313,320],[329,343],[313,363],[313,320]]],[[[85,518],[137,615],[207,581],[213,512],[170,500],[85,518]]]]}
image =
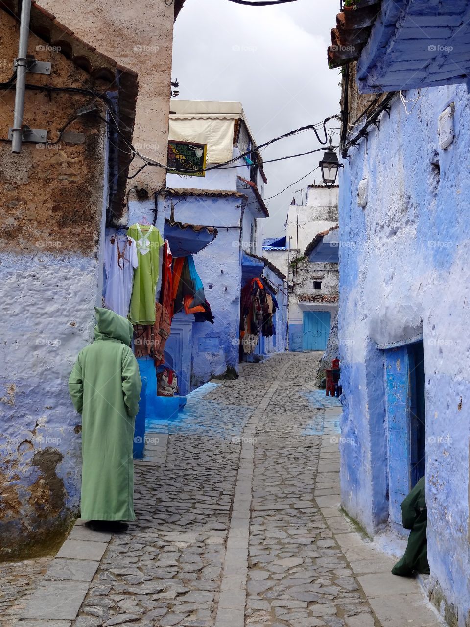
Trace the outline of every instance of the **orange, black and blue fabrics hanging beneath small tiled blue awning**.
{"type": "Polygon", "coordinates": [[[178,257],[173,262],[173,305],[174,314],[182,311],[185,314],[195,314],[197,322],[211,322],[214,316],[211,305],[204,295],[204,286],[197,274],[192,255],[178,257]]]}

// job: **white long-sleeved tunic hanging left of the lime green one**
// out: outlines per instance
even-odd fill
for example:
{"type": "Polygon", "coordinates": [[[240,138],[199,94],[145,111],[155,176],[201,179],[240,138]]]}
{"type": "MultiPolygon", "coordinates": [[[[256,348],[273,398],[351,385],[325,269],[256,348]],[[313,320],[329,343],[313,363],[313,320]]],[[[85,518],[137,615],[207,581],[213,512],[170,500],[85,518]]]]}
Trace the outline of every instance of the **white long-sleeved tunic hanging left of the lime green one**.
{"type": "Polygon", "coordinates": [[[129,313],[134,271],[137,269],[135,240],[125,234],[112,233],[105,241],[105,307],[123,318],[129,313]]]}

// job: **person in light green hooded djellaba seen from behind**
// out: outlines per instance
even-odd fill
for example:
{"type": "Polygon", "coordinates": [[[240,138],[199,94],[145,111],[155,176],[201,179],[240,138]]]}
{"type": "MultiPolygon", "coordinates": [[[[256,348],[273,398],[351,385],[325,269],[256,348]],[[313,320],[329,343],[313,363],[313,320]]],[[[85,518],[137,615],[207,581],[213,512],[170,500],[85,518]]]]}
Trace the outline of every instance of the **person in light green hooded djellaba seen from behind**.
{"type": "Polygon", "coordinates": [[[133,509],[133,437],[142,382],[132,324],[95,307],[95,341],[80,351],[68,381],[82,415],[81,518],[95,531],[122,532],[133,509]]]}

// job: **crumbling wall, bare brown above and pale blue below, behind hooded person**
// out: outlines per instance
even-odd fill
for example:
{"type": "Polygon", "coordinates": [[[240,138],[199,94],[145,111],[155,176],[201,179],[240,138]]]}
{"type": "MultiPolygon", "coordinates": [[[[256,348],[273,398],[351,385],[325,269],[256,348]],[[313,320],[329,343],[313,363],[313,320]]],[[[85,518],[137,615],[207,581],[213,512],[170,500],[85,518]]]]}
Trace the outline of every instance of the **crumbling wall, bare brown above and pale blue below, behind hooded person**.
{"type": "MultiPolygon", "coordinates": [[[[31,82],[68,87],[91,82],[60,53],[29,52],[53,62],[31,82]]],[[[0,12],[1,78],[11,75],[18,26],[0,12]]],[[[90,340],[99,283],[98,248],[105,194],[106,129],[97,118],[73,122],[91,97],[28,90],[24,122],[47,129],[53,144],[0,143],[0,558],[31,556],[60,542],[80,497],[80,416],[67,379],[90,340]]],[[[0,137],[13,123],[14,91],[2,93],[0,137]]]]}

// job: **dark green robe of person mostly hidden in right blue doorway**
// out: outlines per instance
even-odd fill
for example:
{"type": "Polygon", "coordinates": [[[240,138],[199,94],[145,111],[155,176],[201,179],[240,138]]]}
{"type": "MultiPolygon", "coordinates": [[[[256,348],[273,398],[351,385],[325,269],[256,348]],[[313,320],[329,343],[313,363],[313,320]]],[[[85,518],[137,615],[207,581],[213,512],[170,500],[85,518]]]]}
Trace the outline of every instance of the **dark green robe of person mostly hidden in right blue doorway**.
{"type": "Polygon", "coordinates": [[[411,529],[402,559],[392,568],[394,575],[411,577],[413,571],[429,574],[427,563],[427,508],[424,497],[424,477],[402,502],[402,520],[405,529],[411,529]]]}

